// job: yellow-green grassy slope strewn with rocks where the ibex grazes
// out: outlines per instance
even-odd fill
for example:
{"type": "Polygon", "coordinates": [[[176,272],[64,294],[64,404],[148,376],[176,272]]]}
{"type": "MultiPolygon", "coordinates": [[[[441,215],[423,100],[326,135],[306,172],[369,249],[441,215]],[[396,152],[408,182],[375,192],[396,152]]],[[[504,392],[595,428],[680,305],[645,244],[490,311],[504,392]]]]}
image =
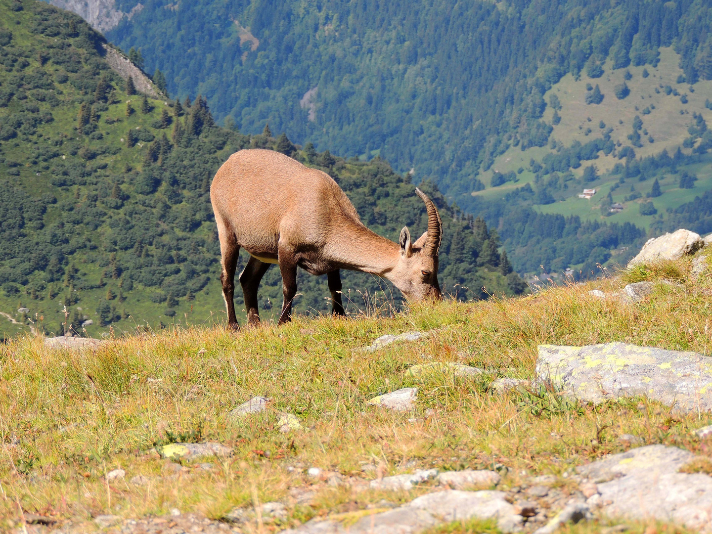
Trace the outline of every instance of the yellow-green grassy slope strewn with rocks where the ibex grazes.
{"type": "MultiPolygon", "coordinates": [[[[607,278],[525,298],[447,301],[394,318],[299,317],[283,328],[266,325],[237,334],[170,328],[86,352],[48,350],[34,337],[11,340],[0,368],[0,528],[21,522],[20,507],[85,531],[92,517],[105,513],[142,518],[178,508],[219,519],[234,506],[249,510],[283,501],[286,518],[264,518],[266,530],[281,529],[338,513],[355,520],[369,509],[410,501],[431,491],[431,484],[392,492],[369,488],[368,482],[421,468],[496,468],[502,491],[553,475],[556,490],[572,496],[576,466],[626,450],[631,440],[710,456],[709,442],[693,434],[712,423],[709,414],[674,415],[644,398],[594,407],[545,388],[502,394],[491,387],[498,377],[532,379],[542,343],[624,341],[708,355],[712,278],[694,281],[690,268],[691,259],[684,258],[659,270],[628,273],[625,280],[607,278]],[[587,294],[619,290],[641,276],[674,276],[681,286],[662,286],[636,305],[587,294]],[[359,350],[379,335],[408,330],[430,335],[375,353],[359,350]],[[406,372],[435,361],[482,367],[485,373],[461,379],[406,372]],[[367,404],[401,387],[419,388],[412,411],[367,404]],[[254,395],[271,399],[266,412],[229,417],[254,395]],[[278,419],[284,414],[302,428],[281,433],[278,419]],[[620,441],[624,434],[634,438],[620,441]],[[202,460],[210,464],[203,467],[183,462],[182,469],[150,451],[177,440],[219,441],[233,456],[202,460]],[[312,466],[325,475],[307,476],[312,466]],[[106,481],[105,473],[115,468],[125,470],[125,479],[106,481]],[[137,476],[144,478],[132,482],[137,476]]],[[[549,516],[556,512],[546,510],[549,516]]],[[[626,523],[640,534],[662,528],[626,523]]],[[[610,524],[614,520],[600,520],[572,531],[600,532],[610,524]]],[[[253,521],[242,528],[256,532],[263,526],[253,521]]],[[[497,532],[461,523],[450,528],[436,531],[497,532]]]]}

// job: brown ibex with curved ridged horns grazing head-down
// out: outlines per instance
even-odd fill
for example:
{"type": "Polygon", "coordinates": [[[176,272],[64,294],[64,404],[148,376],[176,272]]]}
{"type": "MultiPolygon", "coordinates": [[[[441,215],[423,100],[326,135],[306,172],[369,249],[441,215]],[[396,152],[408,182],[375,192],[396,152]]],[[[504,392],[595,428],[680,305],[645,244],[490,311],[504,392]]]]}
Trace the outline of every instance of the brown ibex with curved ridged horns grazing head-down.
{"type": "Polygon", "coordinates": [[[351,201],[325,172],[271,150],[235,152],[210,188],[229,327],[237,328],[233,295],[240,247],[251,256],[240,275],[250,324],[259,323],[257,288],[271,263],[279,265],[282,275],[280,324],[289,320],[298,266],[328,276],[334,315],[345,315],[339,269],[387,278],[408,300],[440,299],[442,222],[431,199],[420,189],[415,192],[425,202],[428,231],[412,243],[404,227],[400,244],[395,244],[362,224],[351,201]]]}

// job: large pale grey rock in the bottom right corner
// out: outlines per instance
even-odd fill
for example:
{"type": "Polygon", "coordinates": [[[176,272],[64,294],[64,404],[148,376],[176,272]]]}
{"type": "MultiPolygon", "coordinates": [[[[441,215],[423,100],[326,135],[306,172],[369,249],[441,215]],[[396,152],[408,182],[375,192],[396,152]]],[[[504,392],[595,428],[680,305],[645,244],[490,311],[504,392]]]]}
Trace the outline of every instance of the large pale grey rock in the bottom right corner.
{"type": "Polygon", "coordinates": [[[696,456],[664,445],[612,454],[578,468],[597,482],[602,512],[611,517],[669,521],[712,532],[712,477],[679,473],[696,456]]]}

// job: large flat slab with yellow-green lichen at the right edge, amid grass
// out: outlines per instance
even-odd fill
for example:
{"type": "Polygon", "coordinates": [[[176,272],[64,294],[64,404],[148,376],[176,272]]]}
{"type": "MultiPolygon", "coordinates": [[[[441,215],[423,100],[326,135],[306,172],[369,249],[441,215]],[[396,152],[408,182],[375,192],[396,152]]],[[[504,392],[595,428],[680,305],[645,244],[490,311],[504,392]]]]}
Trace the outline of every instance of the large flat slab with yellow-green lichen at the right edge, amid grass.
{"type": "Polygon", "coordinates": [[[536,374],[587,402],[644,395],[676,412],[712,409],[712,358],[696,352],[622,342],[585,347],[540,345],[536,374]]]}

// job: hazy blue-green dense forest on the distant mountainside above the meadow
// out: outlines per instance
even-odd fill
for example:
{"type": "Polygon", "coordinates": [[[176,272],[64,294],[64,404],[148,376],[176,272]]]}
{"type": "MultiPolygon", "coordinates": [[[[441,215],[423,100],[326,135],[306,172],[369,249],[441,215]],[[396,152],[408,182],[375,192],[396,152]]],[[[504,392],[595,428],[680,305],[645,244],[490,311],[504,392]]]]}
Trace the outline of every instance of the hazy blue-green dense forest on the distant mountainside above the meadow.
{"type": "MultiPolygon", "coordinates": [[[[135,0],[120,0],[125,12],[135,0]]],[[[475,190],[508,147],[543,146],[543,95],[562,75],[655,65],[681,54],[712,78],[701,0],[142,2],[107,33],[140,48],[172,93],[206,95],[219,120],[266,122],[342,155],[379,153],[446,194],[475,190]]],[[[599,72],[600,71],[600,72],[599,72]]]]}

